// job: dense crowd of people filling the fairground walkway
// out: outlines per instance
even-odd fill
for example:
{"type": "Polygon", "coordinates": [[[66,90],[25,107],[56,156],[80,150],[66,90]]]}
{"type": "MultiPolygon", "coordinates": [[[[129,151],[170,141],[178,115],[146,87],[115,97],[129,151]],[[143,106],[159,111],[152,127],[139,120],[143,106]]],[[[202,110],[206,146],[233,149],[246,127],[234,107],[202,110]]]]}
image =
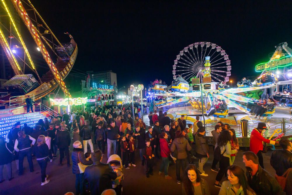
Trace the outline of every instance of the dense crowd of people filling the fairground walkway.
{"type": "MultiPolygon", "coordinates": [[[[220,101],[220,104],[224,102],[220,101]]],[[[135,106],[138,108],[138,105],[135,106]]],[[[72,173],[76,176],[76,194],[88,191],[91,194],[102,194],[104,190],[112,188],[116,194],[121,194],[121,184],[115,182],[123,173],[116,169],[115,165],[101,163],[103,158],[110,158],[112,154],[119,156],[122,168],[143,167],[145,178],[154,175],[154,162],[161,158],[158,175],[164,174],[166,180],[176,177],[177,183],[182,184],[182,194],[211,194],[208,183],[203,179],[208,177],[204,165],[210,158],[210,151],[206,128],[200,117],[197,116],[196,121],[192,123],[187,123],[184,115],[171,121],[166,112],[159,111],[157,114],[157,111],[154,111],[148,115],[150,126],[146,126],[138,115],[134,114],[135,118],[132,118],[132,110],[131,105],[124,105],[96,107],[91,112],[64,111],[62,115],[51,117],[49,120],[39,120],[34,128],[27,124],[23,124],[21,128],[22,124],[16,122],[8,133],[9,142],[6,143],[3,137],[0,138],[0,156],[3,157],[0,158],[0,183],[4,181],[4,165],[7,168],[8,180],[13,179],[13,160],[18,174],[23,175],[23,161],[27,156],[29,171],[34,172],[33,159],[36,158],[41,168],[41,186],[47,184],[50,182],[49,176],[46,175],[47,164],[57,158],[59,150],[58,165],[62,166],[64,161],[68,167],[72,165],[72,173]],[[73,150],[70,153],[72,143],[73,150]],[[135,151],[139,153],[141,165],[136,162],[135,151]],[[196,158],[199,159],[198,166],[192,160],[196,158]],[[175,176],[168,173],[170,164],[176,167],[175,176]]],[[[214,153],[211,170],[217,172],[213,180],[214,186],[220,188],[219,194],[285,194],[284,191],[287,193],[287,190],[291,192],[291,180],[286,180],[285,188],[280,185],[283,175],[289,175],[291,178],[291,141],[265,139],[262,136],[265,129],[265,123],[258,123],[258,127],[251,132],[250,151],[244,152],[243,156],[237,156],[239,143],[235,130],[220,121],[215,125],[211,132],[214,153]],[[264,169],[263,142],[277,143],[282,147],[281,150],[273,152],[270,162],[278,178],[264,169]],[[234,165],[235,158],[242,158],[246,170],[234,165]],[[291,173],[288,174],[288,171],[291,173]],[[226,180],[220,184],[224,176],[226,180]]]]}

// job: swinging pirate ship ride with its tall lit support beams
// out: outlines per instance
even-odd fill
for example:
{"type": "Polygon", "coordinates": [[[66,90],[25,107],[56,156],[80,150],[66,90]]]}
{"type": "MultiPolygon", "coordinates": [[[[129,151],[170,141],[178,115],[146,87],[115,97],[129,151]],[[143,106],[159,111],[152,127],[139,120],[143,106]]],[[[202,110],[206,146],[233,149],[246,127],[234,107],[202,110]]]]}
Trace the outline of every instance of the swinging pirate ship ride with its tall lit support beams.
{"type": "Polygon", "coordinates": [[[71,40],[61,43],[29,0],[1,0],[0,10],[8,16],[8,26],[3,23],[0,26],[0,44],[15,74],[3,84],[9,94],[2,97],[0,103],[9,103],[14,96],[28,94],[34,94],[34,100],[38,100],[57,87],[65,97],[71,97],[64,79],[77,57],[78,47],[73,37],[66,32],[71,40]],[[27,27],[36,46],[23,40],[16,23],[19,20],[17,16],[27,27]],[[46,68],[44,64],[49,71],[39,76],[38,71],[46,68]]]}

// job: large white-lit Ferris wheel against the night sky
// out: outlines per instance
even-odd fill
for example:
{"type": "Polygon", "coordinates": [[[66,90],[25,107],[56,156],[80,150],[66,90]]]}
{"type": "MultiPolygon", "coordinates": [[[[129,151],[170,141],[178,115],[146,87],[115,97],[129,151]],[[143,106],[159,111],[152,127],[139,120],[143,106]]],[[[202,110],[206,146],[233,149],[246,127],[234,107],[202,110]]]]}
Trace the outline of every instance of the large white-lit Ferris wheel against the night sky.
{"type": "Polygon", "coordinates": [[[193,43],[180,51],[174,61],[173,79],[176,79],[177,75],[181,75],[185,77],[186,81],[192,77],[200,78],[202,81],[205,75],[205,57],[207,57],[207,61],[210,57],[209,71],[212,82],[228,82],[231,75],[228,55],[220,46],[210,42],[193,43]]]}

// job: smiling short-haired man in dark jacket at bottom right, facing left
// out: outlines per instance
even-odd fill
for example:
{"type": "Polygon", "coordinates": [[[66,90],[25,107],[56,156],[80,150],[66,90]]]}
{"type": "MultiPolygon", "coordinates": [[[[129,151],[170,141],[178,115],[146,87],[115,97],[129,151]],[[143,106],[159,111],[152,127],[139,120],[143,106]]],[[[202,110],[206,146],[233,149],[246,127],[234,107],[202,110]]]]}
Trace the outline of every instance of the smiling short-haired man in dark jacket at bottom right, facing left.
{"type": "Polygon", "coordinates": [[[274,176],[259,166],[258,156],[251,151],[243,153],[249,187],[258,195],[285,194],[274,176]]]}

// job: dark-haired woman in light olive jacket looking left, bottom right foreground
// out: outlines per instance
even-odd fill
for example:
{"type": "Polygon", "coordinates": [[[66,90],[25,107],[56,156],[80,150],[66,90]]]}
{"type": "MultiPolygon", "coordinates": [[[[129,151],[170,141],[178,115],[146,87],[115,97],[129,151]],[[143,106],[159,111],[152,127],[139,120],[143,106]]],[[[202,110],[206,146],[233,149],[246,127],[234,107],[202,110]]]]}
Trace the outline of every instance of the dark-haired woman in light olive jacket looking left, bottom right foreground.
{"type": "Polygon", "coordinates": [[[227,167],[227,181],[222,183],[219,195],[227,194],[256,194],[251,187],[248,186],[244,170],[237,165],[227,167]]]}

